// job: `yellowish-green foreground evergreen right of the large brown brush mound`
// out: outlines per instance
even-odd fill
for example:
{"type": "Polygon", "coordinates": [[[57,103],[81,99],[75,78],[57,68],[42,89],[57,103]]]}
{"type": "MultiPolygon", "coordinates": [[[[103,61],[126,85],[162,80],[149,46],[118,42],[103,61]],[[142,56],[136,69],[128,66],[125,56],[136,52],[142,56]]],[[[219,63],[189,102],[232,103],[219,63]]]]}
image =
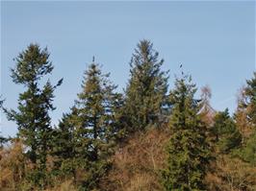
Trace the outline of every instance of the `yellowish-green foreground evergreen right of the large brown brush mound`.
{"type": "Polygon", "coordinates": [[[206,126],[198,114],[199,101],[193,98],[195,91],[191,78],[186,76],[176,79],[170,92],[172,135],[166,148],[167,167],[162,173],[166,190],[205,190],[203,180],[210,154],[206,126]]]}

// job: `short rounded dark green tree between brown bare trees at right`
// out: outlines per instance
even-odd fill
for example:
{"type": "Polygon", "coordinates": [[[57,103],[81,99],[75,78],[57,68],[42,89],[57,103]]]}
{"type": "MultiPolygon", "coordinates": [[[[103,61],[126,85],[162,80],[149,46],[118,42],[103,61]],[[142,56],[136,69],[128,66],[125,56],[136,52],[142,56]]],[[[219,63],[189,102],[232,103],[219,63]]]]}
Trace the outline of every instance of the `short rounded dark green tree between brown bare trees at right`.
{"type": "Polygon", "coordinates": [[[212,130],[220,153],[227,154],[230,150],[241,145],[242,135],[233,119],[229,116],[227,108],[216,114],[212,130]]]}

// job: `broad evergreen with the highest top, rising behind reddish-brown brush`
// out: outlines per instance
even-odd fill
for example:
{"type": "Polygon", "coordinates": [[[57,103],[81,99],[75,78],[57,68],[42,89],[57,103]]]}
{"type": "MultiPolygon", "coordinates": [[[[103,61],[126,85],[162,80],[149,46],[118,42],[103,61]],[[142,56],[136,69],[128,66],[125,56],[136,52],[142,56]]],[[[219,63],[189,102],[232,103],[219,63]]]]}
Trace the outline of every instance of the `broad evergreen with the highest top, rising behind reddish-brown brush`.
{"type": "Polygon", "coordinates": [[[168,77],[167,72],[161,71],[164,60],[158,57],[148,40],[141,40],[135,49],[123,109],[128,131],[143,130],[159,121],[165,105],[168,77]]]}

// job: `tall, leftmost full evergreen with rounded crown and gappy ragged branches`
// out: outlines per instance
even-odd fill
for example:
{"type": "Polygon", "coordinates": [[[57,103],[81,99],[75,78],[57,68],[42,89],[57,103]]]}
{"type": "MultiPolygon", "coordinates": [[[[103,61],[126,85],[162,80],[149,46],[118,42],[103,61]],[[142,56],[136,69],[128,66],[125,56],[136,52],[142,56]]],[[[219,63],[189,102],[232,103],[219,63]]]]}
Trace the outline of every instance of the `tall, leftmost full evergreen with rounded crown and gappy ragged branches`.
{"type": "Polygon", "coordinates": [[[46,156],[52,131],[49,111],[55,109],[52,104],[53,92],[63,80],[56,85],[50,84],[49,80],[44,85],[39,84],[43,76],[52,72],[53,65],[49,61],[47,49],[41,50],[38,44],[30,44],[15,62],[12,69],[13,82],[24,85],[26,90],[19,94],[18,111],[6,108],[4,111],[9,120],[17,124],[18,136],[28,147],[27,156],[35,165],[31,179],[44,187],[46,156]]]}

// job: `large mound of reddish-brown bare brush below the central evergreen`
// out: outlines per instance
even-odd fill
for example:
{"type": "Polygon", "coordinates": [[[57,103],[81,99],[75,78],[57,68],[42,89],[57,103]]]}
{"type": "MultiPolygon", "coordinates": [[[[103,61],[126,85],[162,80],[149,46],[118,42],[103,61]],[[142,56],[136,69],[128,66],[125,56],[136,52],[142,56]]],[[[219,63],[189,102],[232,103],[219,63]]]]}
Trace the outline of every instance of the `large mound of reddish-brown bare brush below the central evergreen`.
{"type": "Polygon", "coordinates": [[[163,190],[159,171],[165,162],[167,129],[153,129],[130,138],[113,156],[113,169],[101,182],[108,191],[163,190]]]}

